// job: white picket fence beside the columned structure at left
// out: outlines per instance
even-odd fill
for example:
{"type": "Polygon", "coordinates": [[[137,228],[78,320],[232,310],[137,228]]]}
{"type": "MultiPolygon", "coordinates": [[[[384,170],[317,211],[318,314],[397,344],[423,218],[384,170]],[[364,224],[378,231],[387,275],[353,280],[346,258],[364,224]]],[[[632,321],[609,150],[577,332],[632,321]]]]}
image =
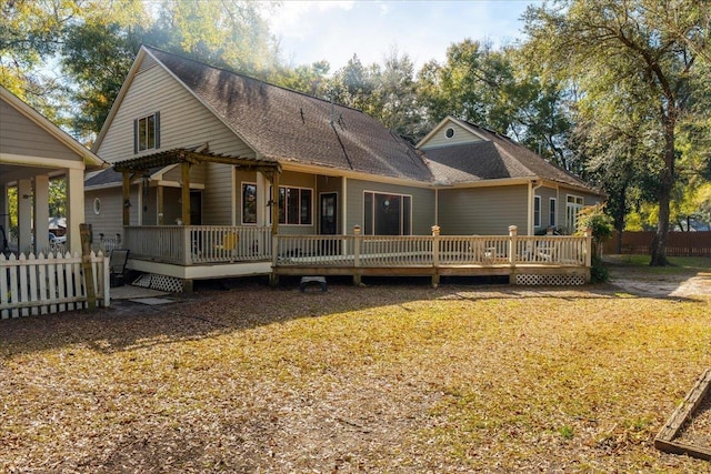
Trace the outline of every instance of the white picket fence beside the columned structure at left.
{"type": "MultiPolygon", "coordinates": [[[[97,306],[109,306],[109,258],[90,254],[97,306]]],[[[0,319],[88,307],[82,256],[67,252],[0,254],[0,319]]]]}

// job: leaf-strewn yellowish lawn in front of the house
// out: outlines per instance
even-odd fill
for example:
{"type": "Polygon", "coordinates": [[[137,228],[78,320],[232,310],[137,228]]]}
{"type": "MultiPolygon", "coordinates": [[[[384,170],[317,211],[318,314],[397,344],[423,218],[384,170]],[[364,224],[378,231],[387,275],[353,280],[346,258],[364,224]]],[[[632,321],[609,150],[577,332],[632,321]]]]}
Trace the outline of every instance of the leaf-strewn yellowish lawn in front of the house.
{"type": "Polygon", "coordinates": [[[653,447],[711,367],[711,297],[619,285],[711,275],[675,262],[1,321],[0,472],[711,472],[653,447]]]}

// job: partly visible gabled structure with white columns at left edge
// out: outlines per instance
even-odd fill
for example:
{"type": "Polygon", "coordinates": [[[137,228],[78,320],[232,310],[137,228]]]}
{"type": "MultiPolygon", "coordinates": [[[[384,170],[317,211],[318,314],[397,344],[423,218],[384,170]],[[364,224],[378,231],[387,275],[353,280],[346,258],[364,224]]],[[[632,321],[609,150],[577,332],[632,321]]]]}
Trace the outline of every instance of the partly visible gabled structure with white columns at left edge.
{"type": "Polygon", "coordinates": [[[18,229],[12,250],[28,253],[47,250],[49,181],[64,177],[67,248],[81,253],[79,224],[84,222],[84,171],[106,165],[77,140],[0,87],[0,225],[12,240],[8,232],[8,190],[17,186],[18,229]]]}

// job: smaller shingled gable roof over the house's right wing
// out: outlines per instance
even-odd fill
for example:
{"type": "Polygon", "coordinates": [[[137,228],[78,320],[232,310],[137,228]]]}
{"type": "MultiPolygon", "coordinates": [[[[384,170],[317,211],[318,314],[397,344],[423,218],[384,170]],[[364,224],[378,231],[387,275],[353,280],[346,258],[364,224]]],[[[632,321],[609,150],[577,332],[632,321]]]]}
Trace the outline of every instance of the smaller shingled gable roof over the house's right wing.
{"type": "MultiPolygon", "coordinates": [[[[549,163],[528,148],[483,127],[448,117],[435,128],[448,122],[471,131],[478,140],[470,143],[428,148],[428,164],[439,182],[451,184],[498,179],[540,179],[583,188],[592,188],[573,174],[549,163]]],[[[430,138],[432,133],[428,134],[430,138]]],[[[421,147],[427,138],[418,143],[421,147]]]]}

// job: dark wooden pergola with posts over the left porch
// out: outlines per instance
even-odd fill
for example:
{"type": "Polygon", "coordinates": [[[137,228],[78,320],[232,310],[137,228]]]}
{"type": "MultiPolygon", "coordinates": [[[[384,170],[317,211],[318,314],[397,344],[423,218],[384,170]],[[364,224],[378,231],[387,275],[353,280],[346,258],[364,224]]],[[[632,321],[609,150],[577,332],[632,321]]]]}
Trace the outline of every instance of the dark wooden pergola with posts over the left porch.
{"type": "MultiPolygon", "coordinates": [[[[113,163],[113,169],[123,175],[123,225],[129,225],[130,223],[131,182],[139,177],[148,175],[151,169],[164,168],[172,164],[180,164],[182,223],[190,225],[190,167],[200,163],[223,163],[239,167],[243,170],[259,171],[272,184],[271,202],[279,202],[279,175],[281,174],[281,164],[279,164],[278,161],[211,153],[207,144],[196,148],[178,148],[113,163]]],[[[162,199],[159,199],[159,205],[163,205],[162,199]]],[[[162,209],[159,209],[158,212],[161,213],[162,209]]],[[[272,205],[271,213],[272,233],[277,234],[279,206],[272,205]]]]}

